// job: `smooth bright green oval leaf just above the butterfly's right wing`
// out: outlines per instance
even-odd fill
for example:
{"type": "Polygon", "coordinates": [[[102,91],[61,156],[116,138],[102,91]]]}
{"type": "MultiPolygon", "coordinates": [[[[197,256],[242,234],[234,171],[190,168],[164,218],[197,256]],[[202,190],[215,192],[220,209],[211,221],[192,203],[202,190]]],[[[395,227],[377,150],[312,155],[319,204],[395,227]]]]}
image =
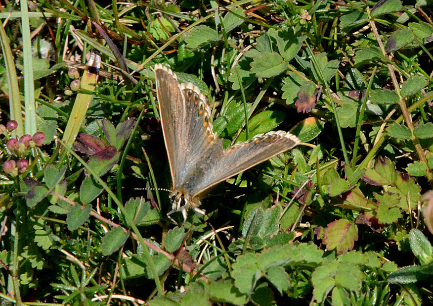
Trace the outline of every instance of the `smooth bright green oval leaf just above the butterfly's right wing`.
{"type": "MultiPolygon", "coordinates": [[[[267,133],[276,128],[286,118],[286,113],[278,110],[264,110],[250,119],[250,139],[260,133],[267,133]]],[[[242,132],[237,143],[247,141],[247,133],[242,132]]]]}

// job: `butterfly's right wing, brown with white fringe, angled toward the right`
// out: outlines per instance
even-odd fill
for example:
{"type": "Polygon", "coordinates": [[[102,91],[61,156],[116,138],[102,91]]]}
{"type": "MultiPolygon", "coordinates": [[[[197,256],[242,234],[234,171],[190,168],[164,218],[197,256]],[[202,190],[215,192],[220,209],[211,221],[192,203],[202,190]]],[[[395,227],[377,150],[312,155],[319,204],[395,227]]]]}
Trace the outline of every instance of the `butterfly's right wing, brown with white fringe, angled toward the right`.
{"type": "Polygon", "coordinates": [[[197,182],[191,194],[196,197],[219,182],[290,150],[300,143],[301,141],[293,134],[272,131],[229,147],[221,154],[215,154],[216,158],[207,158],[207,177],[197,182]]]}

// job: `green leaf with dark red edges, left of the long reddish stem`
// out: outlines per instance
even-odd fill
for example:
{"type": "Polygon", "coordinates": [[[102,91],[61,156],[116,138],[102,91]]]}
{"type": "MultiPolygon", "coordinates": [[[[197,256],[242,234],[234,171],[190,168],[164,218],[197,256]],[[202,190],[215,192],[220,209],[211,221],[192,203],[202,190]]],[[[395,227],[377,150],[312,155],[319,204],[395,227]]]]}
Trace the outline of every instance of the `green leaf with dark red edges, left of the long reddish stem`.
{"type": "Polygon", "coordinates": [[[388,157],[379,156],[373,169],[365,169],[362,180],[370,185],[383,186],[393,185],[397,177],[397,171],[392,161],[388,157]]]}

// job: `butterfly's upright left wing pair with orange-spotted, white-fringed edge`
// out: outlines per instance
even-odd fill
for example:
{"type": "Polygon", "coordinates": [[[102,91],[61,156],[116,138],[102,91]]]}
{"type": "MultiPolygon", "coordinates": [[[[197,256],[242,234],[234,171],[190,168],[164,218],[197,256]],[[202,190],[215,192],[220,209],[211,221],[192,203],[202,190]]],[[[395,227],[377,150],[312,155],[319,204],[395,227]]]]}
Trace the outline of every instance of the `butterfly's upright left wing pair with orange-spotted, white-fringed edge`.
{"type": "Polygon", "coordinates": [[[215,145],[211,111],[196,86],[179,84],[173,71],[164,65],[156,64],[154,70],[173,188],[186,189],[197,162],[215,145]]]}

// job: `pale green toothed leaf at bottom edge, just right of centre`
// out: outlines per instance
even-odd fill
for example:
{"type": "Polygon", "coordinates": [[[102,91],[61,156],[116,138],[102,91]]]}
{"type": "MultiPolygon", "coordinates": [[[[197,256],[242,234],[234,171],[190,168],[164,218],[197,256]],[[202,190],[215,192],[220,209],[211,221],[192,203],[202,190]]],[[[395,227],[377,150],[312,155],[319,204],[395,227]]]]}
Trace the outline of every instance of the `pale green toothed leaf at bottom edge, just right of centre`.
{"type": "Polygon", "coordinates": [[[232,280],[220,280],[209,284],[209,294],[212,301],[229,303],[234,305],[245,305],[248,296],[241,293],[232,280]]]}

